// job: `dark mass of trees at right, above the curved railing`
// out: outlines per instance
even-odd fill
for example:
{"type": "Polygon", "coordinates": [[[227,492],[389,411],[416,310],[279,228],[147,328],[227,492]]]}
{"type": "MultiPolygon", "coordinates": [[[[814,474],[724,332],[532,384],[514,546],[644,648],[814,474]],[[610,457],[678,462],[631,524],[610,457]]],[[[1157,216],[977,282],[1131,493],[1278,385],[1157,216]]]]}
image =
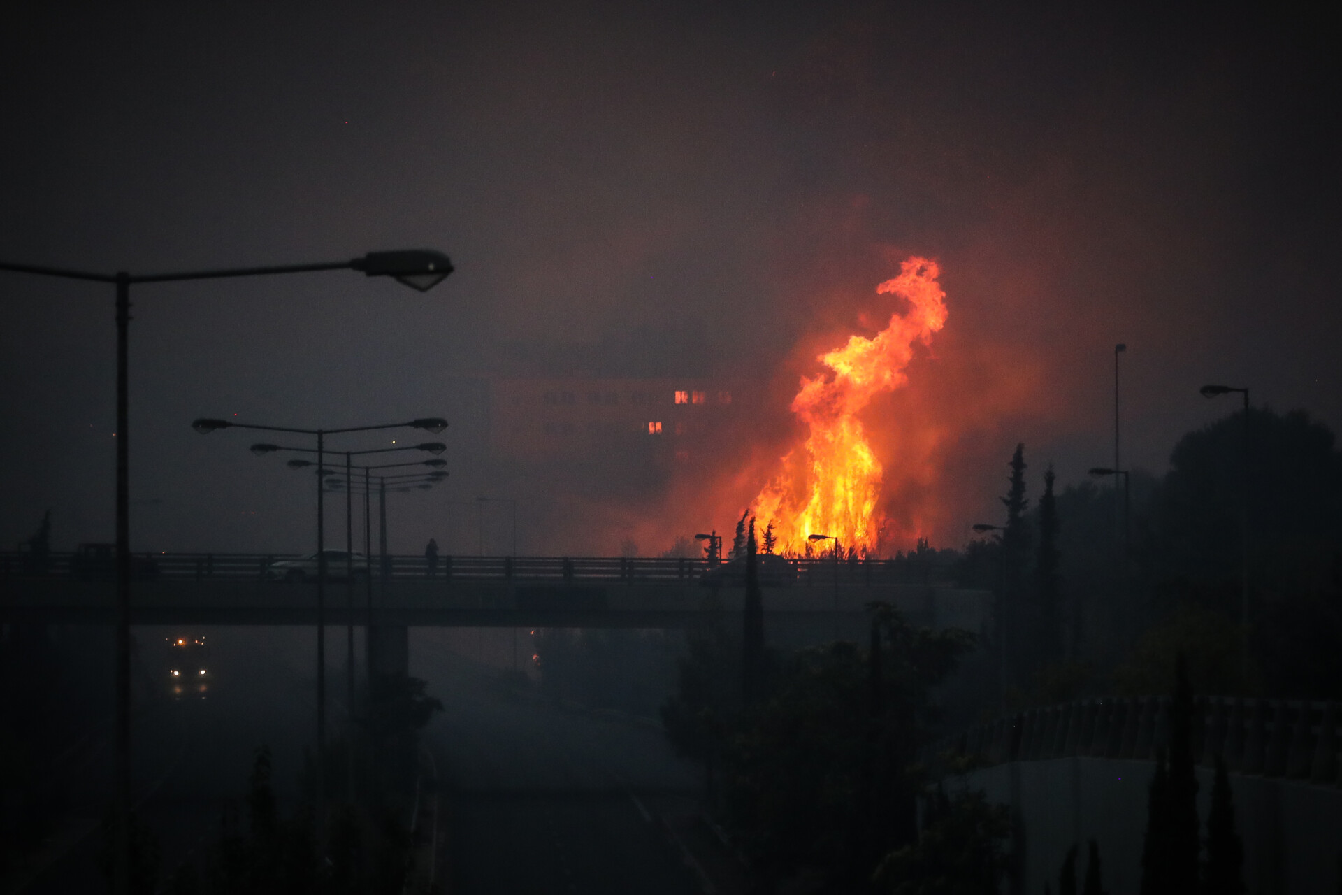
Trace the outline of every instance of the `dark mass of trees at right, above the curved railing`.
{"type": "Polygon", "coordinates": [[[1168,692],[1178,652],[1197,692],[1342,695],[1342,454],[1303,411],[1251,409],[1245,466],[1244,423],[1189,432],[1161,478],[1133,471],[1126,514],[1121,476],[1056,491],[1051,468],[1024,506],[1017,448],[994,521],[1005,530],[953,566],[961,585],[994,593],[986,645],[1005,640],[1012,706],[1168,692]]]}

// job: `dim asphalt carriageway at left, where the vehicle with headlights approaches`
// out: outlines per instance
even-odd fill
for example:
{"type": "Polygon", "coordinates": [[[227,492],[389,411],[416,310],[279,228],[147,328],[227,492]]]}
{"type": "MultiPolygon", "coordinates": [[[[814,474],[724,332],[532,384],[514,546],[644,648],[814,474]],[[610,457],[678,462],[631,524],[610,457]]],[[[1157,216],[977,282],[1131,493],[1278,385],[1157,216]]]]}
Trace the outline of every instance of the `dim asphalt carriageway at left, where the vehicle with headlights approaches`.
{"type": "MultiPolygon", "coordinates": [[[[282,809],[293,805],[302,747],[315,726],[311,671],[302,674],[314,655],[310,631],[193,631],[211,643],[213,690],[205,699],[146,702],[132,727],[136,810],[157,837],[165,880],[183,860],[204,855],[227,806],[242,805],[258,746],[271,749],[282,809]]],[[[166,633],[141,628],[137,639],[145,644],[166,633]]],[[[110,729],[75,749],[64,764],[70,817],[27,872],[4,880],[7,891],[106,891],[101,820],[110,804],[111,758],[110,729]]]]}

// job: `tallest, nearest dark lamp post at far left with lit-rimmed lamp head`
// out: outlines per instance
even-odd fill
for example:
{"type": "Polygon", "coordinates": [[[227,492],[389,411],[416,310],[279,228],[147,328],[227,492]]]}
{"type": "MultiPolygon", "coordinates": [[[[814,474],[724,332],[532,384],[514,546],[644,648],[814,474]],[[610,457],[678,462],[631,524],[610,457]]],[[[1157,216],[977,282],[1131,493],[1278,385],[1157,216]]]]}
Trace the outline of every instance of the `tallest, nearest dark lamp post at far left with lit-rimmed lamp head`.
{"type": "Polygon", "coordinates": [[[99,274],[0,262],[0,271],[79,279],[115,286],[117,321],[117,721],[115,721],[115,781],[113,786],[113,813],[115,816],[113,841],[113,891],[121,894],[130,887],[130,401],[129,401],[129,342],[130,286],[133,283],[176,283],[195,279],[227,279],[235,276],[271,276],[276,274],[307,274],[330,270],[362,271],[368,276],[391,276],[411,288],[425,293],[452,272],[452,262],[443,252],[411,250],[369,252],[348,262],[317,264],[279,264],[270,267],[235,267],[224,270],[178,271],[170,274],[99,274]]]}

